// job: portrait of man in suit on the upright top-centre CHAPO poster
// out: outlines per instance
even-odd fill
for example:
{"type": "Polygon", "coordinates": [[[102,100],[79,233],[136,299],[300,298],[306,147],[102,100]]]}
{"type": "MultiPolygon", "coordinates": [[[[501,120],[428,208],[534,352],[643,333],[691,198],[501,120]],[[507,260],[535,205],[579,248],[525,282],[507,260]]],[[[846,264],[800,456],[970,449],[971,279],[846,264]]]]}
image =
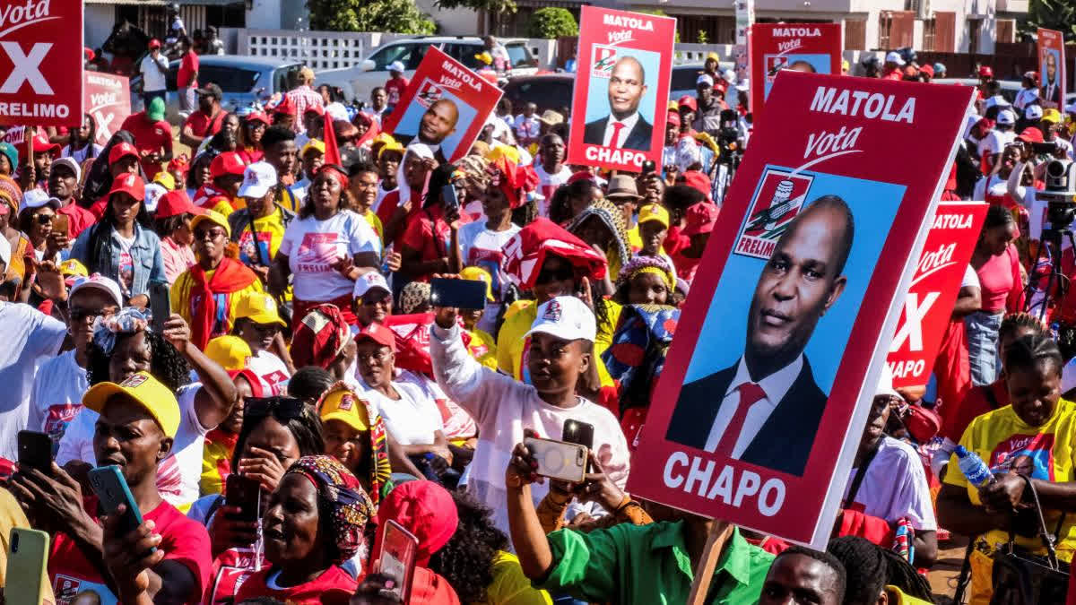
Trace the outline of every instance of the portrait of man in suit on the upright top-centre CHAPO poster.
{"type": "Polygon", "coordinates": [[[647,75],[635,57],[622,57],[609,75],[609,115],[586,123],[583,142],[624,150],[647,151],[654,127],[639,114],[647,93],[647,75]]]}

